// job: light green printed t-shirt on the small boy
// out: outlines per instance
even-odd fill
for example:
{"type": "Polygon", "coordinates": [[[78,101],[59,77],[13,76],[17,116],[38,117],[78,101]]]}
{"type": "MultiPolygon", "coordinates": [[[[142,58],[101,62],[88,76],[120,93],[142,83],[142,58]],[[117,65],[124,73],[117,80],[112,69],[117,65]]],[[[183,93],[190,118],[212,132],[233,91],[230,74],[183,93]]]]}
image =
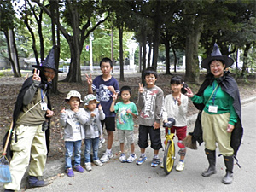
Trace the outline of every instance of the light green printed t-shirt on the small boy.
{"type": "Polygon", "coordinates": [[[133,130],[133,119],[130,113],[126,111],[130,109],[132,113],[137,115],[137,107],[134,102],[125,104],[124,102],[118,102],[114,105],[114,112],[117,114],[116,126],[119,130],[133,130]]]}

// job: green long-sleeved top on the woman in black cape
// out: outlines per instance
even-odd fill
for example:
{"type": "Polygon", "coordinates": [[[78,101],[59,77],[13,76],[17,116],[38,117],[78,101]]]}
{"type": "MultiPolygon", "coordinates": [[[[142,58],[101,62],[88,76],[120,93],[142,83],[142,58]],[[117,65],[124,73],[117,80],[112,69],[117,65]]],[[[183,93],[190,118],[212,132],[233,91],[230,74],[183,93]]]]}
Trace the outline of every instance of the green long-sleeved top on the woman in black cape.
{"type": "Polygon", "coordinates": [[[206,107],[204,108],[204,111],[206,113],[209,113],[209,114],[230,113],[229,124],[235,125],[235,123],[237,122],[237,115],[236,115],[235,108],[233,107],[233,98],[229,94],[221,90],[221,87],[219,85],[212,95],[212,91],[217,86],[217,84],[218,84],[217,81],[214,80],[212,85],[207,86],[206,90],[204,90],[203,96],[194,95],[191,98],[191,100],[192,102],[195,102],[195,103],[204,103],[206,105],[206,107]],[[209,100],[209,102],[207,102],[211,95],[212,95],[211,99],[209,100]],[[218,112],[217,113],[209,112],[210,105],[218,106],[218,112]]]}

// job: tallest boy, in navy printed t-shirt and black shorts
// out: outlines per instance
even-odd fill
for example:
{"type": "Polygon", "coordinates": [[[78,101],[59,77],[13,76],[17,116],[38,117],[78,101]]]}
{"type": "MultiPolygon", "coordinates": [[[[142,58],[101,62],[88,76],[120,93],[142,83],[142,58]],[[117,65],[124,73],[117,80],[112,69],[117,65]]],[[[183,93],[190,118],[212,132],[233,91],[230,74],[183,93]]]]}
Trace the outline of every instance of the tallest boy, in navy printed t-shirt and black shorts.
{"type": "Polygon", "coordinates": [[[88,75],[86,75],[88,83],[88,93],[91,94],[96,91],[96,99],[101,102],[102,109],[106,118],[102,121],[102,127],[106,125],[108,133],[107,149],[103,154],[102,163],[107,162],[113,157],[112,145],[113,145],[113,131],[115,131],[115,113],[109,110],[112,103],[113,93],[119,94],[119,83],[111,75],[113,69],[113,62],[109,58],[103,58],[100,62],[102,75],[97,76],[93,81],[88,75]]]}

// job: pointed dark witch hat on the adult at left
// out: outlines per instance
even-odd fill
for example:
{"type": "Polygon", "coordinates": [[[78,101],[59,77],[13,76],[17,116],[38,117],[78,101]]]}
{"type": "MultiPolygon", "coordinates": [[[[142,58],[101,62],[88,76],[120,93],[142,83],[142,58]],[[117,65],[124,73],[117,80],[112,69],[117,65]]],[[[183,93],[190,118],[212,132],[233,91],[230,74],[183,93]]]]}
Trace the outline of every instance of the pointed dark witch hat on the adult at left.
{"type": "Polygon", "coordinates": [[[36,67],[40,71],[44,70],[44,67],[51,68],[55,70],[55,73],[63,73],[61,71],[58,71],[55,67],[55,48],[54,47],[49,51],[49,55],[47,55],[46,59],[39,66],[32,65],[32,67],[36,67]]]}

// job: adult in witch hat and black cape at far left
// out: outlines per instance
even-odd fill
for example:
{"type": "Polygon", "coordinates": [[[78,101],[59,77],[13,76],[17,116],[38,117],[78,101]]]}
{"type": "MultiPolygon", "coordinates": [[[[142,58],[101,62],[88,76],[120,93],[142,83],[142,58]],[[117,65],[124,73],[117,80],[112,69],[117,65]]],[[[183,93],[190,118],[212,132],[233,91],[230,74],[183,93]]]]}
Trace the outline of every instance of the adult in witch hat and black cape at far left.
{"type": "Polygon", "coordinates": [[[13,134],[10,143],[12,159],[9,169],[12,182],[4,191],[19,191],[21,179],[29,166],[26,188],[43,187],[48,182],[38,180],[43,175],[49,148],[49,119],[53,116],[49,89],[55,73],[54,48],[40,66],[26,79],[15,103],[13,134]]]}

